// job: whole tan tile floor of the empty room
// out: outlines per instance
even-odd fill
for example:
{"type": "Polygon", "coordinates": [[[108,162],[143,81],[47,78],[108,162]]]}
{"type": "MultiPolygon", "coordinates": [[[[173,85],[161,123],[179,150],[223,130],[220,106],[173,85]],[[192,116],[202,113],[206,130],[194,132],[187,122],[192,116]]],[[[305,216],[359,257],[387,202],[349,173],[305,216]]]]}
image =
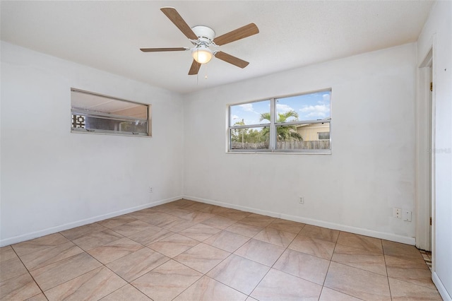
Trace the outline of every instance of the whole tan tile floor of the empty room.
{"type": "Polygon", "coordinates": [[[187,200],[0,250],[1,300],[441,300],[413,246],[187,200]]]}

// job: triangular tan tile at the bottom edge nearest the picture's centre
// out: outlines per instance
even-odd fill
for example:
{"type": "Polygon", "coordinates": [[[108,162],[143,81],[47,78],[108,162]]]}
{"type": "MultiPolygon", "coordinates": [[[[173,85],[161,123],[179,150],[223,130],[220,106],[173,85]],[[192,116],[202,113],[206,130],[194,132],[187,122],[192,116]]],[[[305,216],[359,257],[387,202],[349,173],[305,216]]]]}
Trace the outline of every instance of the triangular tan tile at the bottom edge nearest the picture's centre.
{"type": "Polygon", "coordinates": [[[246,295],[226,286],[207,276],[203,276],[191,285],[184,293],[177,296],[174,301],[241,301],[245,300],[246,295]]]}

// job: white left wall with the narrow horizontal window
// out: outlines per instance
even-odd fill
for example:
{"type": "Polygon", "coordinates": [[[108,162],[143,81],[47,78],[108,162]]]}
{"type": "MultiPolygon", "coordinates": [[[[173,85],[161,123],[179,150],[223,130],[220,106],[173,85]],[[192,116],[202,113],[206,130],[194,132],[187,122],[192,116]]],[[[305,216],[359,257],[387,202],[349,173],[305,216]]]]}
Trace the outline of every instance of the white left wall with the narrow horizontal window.
{"type": "Polygon", "coordinates": [[[0,244],[178,199],[183,118],[177,93],[1,42],[0,244]],[[152,104],[153,138],[71,134],[71,88],[152,104]]]}

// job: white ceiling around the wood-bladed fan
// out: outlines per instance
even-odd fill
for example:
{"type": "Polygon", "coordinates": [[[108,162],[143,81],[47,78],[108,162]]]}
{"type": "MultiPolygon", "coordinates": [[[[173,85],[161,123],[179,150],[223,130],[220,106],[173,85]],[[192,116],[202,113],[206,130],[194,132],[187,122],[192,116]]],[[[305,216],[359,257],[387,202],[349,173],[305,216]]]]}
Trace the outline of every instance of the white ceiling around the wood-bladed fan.
{"type": "Polygon", "coordinates": [[[432,1],[1,1],[1,40],[179,93],[417,40],[432,1]],[[191,47],[160,11],[218,35],[248,23],[260,33],[219,47],[245,69],[213,59],[187,75],[191,47]],[[208,78],[205,78],[205,76],[208,78]]]}

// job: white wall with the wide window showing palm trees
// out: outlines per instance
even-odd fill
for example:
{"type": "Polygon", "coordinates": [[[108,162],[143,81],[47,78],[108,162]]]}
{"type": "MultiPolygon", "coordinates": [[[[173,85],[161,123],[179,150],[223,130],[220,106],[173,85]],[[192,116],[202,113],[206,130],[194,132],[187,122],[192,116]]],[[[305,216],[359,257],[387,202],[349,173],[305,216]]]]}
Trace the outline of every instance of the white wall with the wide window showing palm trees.
{"type": "Polygon", "coordinates": [[[409,44],[187,95],[186,198],[414,244],[415,70],[409,44]],[[331,155],[225,153],[227,104],[324,88],[331,155]]]}

